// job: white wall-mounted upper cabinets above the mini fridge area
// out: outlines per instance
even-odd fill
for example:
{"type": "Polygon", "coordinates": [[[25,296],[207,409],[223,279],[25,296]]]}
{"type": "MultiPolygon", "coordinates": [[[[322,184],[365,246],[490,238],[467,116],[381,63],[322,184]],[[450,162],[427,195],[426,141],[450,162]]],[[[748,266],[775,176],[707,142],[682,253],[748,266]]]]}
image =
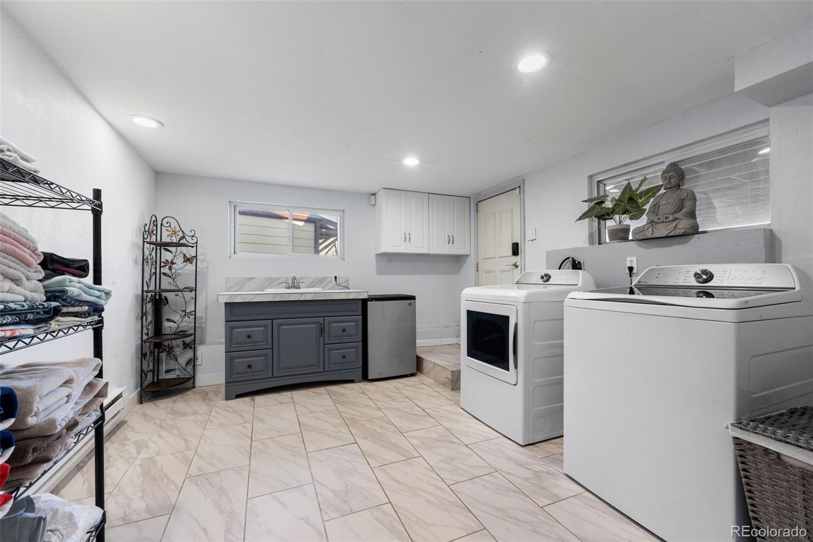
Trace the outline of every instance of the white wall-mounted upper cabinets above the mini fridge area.
{"type": "Polygon", "coordinates": [[[469,199],[382,189],[376,194],[376,254],[468,254],[469,199]]]}

